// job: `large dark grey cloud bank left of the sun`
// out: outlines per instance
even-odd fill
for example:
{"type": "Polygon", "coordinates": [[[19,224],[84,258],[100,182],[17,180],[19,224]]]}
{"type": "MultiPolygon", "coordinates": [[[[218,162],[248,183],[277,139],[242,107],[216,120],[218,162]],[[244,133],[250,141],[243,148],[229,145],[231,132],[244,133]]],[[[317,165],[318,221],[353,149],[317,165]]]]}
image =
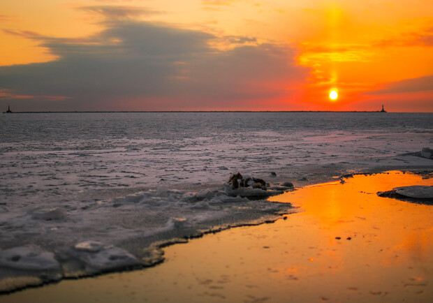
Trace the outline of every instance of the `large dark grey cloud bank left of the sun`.
{"type": "Polygon", "coordinates": [[[211,34],[148,22],[116,20],[83,39],[10,34],[41,41],[59,57],[0,67],[0,92],[8,91],[0,99],[17,101],[15,110],[230,109],[234,100],[288,96],[309,72],[288,46],[221,51],[210,47],[211,34]]]}

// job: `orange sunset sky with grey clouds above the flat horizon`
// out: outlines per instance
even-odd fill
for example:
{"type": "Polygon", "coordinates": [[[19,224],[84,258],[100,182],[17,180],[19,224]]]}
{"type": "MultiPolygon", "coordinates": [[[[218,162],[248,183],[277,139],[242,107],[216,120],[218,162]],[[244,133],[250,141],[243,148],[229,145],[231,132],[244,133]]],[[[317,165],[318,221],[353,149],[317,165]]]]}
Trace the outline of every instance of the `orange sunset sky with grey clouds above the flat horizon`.
{"type": "Polygon", "coordinates": [[[0,111],[433,112],[432,0],[1,0],[0,41],[0,111]]]}

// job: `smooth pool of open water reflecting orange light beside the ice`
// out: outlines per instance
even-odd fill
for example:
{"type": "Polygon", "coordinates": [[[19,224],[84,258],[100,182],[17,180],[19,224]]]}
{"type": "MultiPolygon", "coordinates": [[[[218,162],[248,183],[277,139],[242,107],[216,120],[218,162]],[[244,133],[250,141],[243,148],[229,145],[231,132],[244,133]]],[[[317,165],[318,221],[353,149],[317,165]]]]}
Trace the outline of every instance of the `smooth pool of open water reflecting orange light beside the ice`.
{"type": "Polygon", "coordinates": [[[433,206],[376,194],[409,185],[433,179],[357,175],[274,196],[303,212],[170,246],[156,267],[1,302],[432,302],[433,206]]]}

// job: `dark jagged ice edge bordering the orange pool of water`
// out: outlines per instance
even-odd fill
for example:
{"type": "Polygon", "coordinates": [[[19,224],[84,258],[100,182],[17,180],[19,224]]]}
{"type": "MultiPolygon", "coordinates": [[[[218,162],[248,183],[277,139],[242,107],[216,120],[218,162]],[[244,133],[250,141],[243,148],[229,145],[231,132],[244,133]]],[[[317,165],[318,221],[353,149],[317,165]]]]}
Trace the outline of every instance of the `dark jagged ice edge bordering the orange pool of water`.
{"type": "MultiPolygon", "coordinates": [[[[429,170],[428,168],[425,168],[425,167],[424,168],[423,167],[412,168],[412,169],[406,168],[406,169],[401,169],[401,170],[403,172],[409,172],[409,173],[413,173],[413,174],[417,174],[417,175],[422,175],[423,173],[427,174],[427,175],[429,175],[429,173],[430,173],[430,175],[431,175],[431,173],[433,171],[432,169],[429,170]]],[[[339,182],[341,184],[344,184],[344,178],[351,178],[351,177],[356,176],[356,175],[371,176],[371,175],[375,175],[375,174],[383,174],[385,172],[386,172],[385,170],[382,171],[379,168],[375,168],[375,169],[370,169],[369,172],[365,171],[365,172],[360,172],[358,174],[349,174],[346,176],[341,175],[340,177],[337,177],[337,178],[336,177],[332,177],[332,178],[328,177],[328,182],[330,182],[333,179],[334,182],[339,182]]],[[[305,189],[307,187],[314,187],[315,185],[318,185],[318,183],[311,184],[311,181],[309,181],[308,183],[309,184],[306,184],[301,188],[297,188],[296,190],[302,190],[302,189],[305,189]]],[[[323,182],[321,182],[321,183],[323,183],[323,182]]],[[[286,193],[288,193],[288,192],[286,192],[286,193]]],[[[268,200],[272,200],[272,197],[268,198],[268,200]]],[[[293,209],[293,210],[295,210],[295,209],[293,209]]],[[[125,270],[132,270],[132,271],[143,270],[143,269],[145,270],[147,268],[152,268],[156,265],[164,263],[165,257],[163,255],[164,255],[165,249],[169,246],[173,246],[174,244],[186,243],[186,242],[189,242],[189,240],[191,240],[191,239],[203,238],[205,235],[216,234],[218,232],[221,232],[224,230],[230,230],[233,228],[240,228],[240,227],[246,227],[246,226],[260,226],[260,225],[263,225],[264,223],[274,223],[275,221],[279,221],[280,219],[283,219],[283,218],[284,218],[284,220],[286,220],[286,217],[287,217],[286,215],[288,215],[288,214],[293,214],[293,212],[286,212],[284,214],[280,213],[280,214],[278,214],[278,216],[276,216],[276,215],[272,216],[271,219],[263,218],[263,219],[260,219],[259,221],[256,221],[256,222],[236,223],[234,225],[229,224],[226,226],[216,226],[216,227],[214,226],[213,228],[210,228],[207,230],[200,230],[198,233],[196,232],[194,234],[186,235],[184,237],[168,239],[168,240],[165,240],[163,242],[154,242],[151,246],[147,246],[149,253],[152,255],[148,260],[145,260],[145,262],[142,263],[141,265],[135,265],[133,267],[127,266],[124,268],[119,268],[119,269],[114,270],[114,272],[124,272],[125,270]]],[[[122,246],[122,247],[124,247],[124,246],[122,246]]],[[[85,279],[87,277],[91,278],[91,277],[95,277],[95,276],[105,275],[105,274],[108,274],[110,272],[113,272],[113,271],[108,270],[108,271],[103,271],[103,272],[100,272],[97,274],[90,274],[90,275],[85,274],[84,276],[64,276],[62,278],[62,280],[82,279],[82,278],[85,279]]],[[[20,292],[20,291],[28,289],[28,288],[33,288],[33,287],[38,288],[38,287],[45,286],[45,285],[51,284],[51,283],[58,283],[58,281],[52,281],[52,282],[41,281],[41,282],[39,282],[38,285],[35,285],[35,286],[23,286],[23,287],[19,287],[16,289],[10,289],[10,290],[0,292],[0,295],[17,293],[17,292],[20,292]]]]}

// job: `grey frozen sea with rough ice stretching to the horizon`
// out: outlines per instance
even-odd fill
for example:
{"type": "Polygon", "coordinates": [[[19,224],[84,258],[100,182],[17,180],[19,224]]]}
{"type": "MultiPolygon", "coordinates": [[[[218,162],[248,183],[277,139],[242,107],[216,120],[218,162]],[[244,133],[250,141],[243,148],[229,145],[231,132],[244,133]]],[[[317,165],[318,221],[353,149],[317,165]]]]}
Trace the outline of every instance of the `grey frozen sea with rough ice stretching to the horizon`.
{"type": "Polygon", "coordinates": [[[1,114],[0,291],[149,265],[160,244],[295,211],[228,193],[232,173],[281,190],[431,170],[415,153],[432,143],[432,113],[1,114]]]}

